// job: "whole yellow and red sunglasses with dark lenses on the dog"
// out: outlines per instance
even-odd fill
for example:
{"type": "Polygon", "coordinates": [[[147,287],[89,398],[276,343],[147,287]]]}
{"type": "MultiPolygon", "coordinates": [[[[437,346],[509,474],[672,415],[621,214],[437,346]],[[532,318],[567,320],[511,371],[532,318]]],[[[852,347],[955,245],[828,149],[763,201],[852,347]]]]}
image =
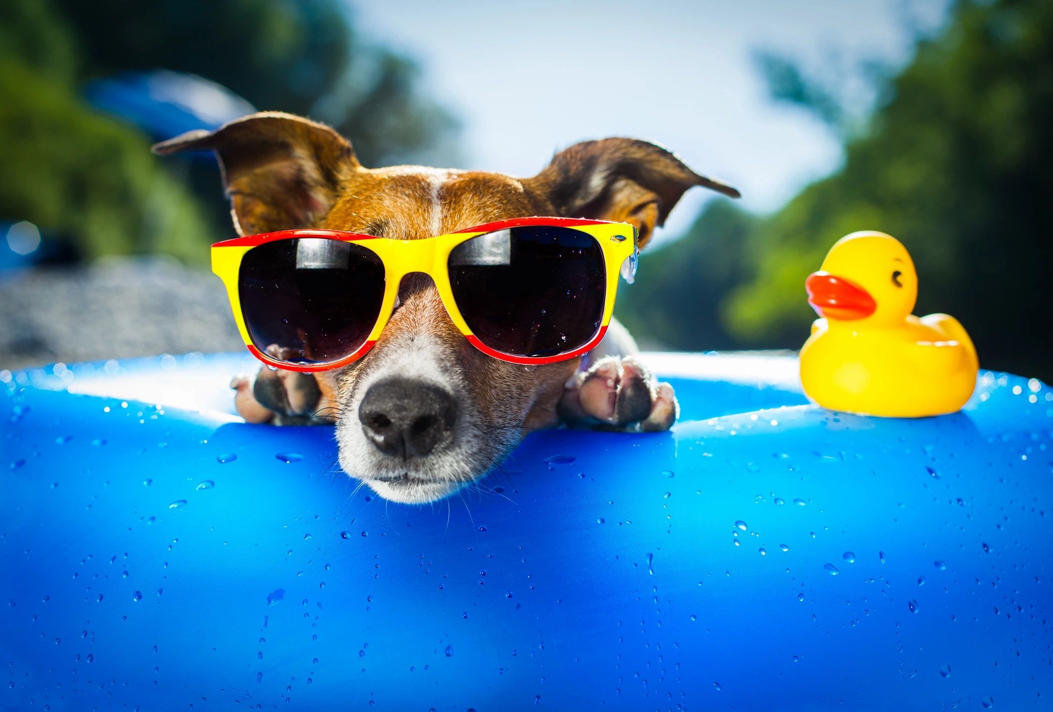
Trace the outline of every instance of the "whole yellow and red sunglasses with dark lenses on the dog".
{"type": "Polygon", "coordinates": [[[473,346],[538,365],[600,342],[619,272],[629,282],[636,272],[636,242],[632,225],[568,218],[503,220],[424,240],[282,230],[216,243],[212,269],[245,345],[270,366],[324,371],[360,359],[411,272],[431,276],[473,346]]]}

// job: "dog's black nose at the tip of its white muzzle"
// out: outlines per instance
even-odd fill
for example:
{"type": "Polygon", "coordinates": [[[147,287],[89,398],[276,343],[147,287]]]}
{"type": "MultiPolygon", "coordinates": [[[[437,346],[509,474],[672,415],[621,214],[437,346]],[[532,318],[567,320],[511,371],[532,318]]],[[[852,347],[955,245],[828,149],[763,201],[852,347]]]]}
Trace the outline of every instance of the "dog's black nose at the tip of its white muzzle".
{"type": "Polygon", "coordinates": [[[362,432],[384,454],[423,456],[450,440],[457,415],[444,388],[410,379],[370,386],[358,406],[362,432]]]}

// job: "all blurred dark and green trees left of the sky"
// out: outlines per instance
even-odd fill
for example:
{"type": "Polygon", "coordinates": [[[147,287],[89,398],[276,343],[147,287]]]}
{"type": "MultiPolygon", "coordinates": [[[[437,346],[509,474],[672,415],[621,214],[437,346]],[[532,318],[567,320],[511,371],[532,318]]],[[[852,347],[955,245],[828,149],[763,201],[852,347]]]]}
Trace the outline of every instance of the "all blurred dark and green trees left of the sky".
{"type": "Polygon", "coordinates": [[[338,0],[4,0],[0,218],[29,220],[87,258],[207,260],[232,235],[215,164],[162,163],[152,138],[80,95],[93,78],[156,68],[330,123],[364,165],[456,160],[457,123],[422,96],[416,65],[359,42],[338,0]]]}

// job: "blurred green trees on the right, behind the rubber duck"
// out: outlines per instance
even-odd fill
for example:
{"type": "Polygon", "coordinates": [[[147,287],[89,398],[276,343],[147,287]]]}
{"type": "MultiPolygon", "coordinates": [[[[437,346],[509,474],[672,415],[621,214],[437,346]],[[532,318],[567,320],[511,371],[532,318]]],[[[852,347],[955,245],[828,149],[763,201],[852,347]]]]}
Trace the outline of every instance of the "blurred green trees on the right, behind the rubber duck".
{"type": "MultiPolygon", "coordinates": [[[[644,255],[619,316],[672,348],[796,348],[815,318],[804,277],[841,236],[879,229],[914,258],[916,313],[957,317],[987,368],[1053,380],[1051,36],[1048,0],[957,2],[890,80],[841,169],[772,216],[711,203],[684,239],[644,255]]],[[[829,93],[773,88],[839,114],[829,93]]]]}

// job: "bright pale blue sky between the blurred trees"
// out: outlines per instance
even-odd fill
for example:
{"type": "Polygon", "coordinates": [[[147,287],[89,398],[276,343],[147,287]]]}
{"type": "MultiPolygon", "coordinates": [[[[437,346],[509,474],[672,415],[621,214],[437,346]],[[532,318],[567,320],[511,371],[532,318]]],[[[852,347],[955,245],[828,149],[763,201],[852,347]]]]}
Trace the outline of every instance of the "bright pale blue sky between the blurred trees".
{"type": "MultiPolygon", "coordinates": [[[[773,210],[841,160],[835,137],[773,104],[753,53],[806,62],[901,64],[910,23],[947,0],[349,0],[362,37],[418,60],[463,121],[460,167],[533,176],[561,147],[607,136],[655,141],[697,172],[773,210]]],[[[689,191],[664,237],[711,196],[689,191]]],[[[660,236],[661,237],[661,236],[660,236]]]]}

